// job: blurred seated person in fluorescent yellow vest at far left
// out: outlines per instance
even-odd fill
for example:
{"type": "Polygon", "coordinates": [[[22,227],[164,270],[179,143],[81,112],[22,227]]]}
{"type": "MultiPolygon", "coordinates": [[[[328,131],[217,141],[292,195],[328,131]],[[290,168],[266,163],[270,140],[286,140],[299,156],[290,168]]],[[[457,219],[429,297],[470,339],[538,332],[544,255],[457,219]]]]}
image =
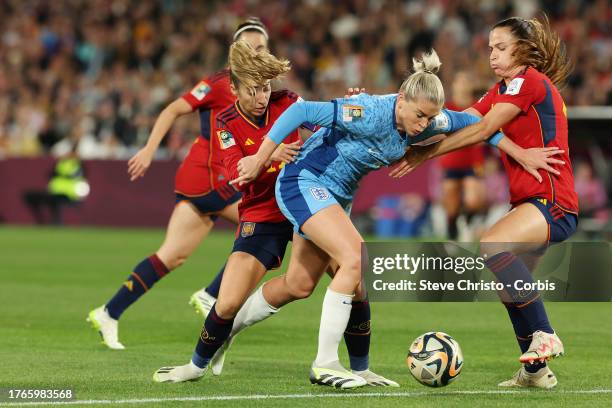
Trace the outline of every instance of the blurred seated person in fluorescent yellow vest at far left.
{"type": "Polygon", "coordinates": [[[46,190],[26,191],[23,199],[37,224],[62,224],[62,210],[75,206],[89,195],[83,165],[74,149],[53,167],[46,190]],[[45,215],[45,213],[47,215],[45,215]]]}

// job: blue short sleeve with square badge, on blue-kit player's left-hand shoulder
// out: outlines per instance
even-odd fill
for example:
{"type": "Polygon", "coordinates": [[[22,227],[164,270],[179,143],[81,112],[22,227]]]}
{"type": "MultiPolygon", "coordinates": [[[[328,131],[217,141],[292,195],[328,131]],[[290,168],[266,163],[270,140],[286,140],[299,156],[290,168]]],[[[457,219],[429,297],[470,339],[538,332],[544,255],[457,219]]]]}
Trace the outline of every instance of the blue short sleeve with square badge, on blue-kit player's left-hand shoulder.
{"type": "Polygon", "coordinates": [[[358,136],[371,136],[383,129],[385,119],[393,115],[384,104],[366,94],[356,97],[333,99],[333,127],[358,136]],[[389,116],[389,117],[387,117],[389,116]]]}

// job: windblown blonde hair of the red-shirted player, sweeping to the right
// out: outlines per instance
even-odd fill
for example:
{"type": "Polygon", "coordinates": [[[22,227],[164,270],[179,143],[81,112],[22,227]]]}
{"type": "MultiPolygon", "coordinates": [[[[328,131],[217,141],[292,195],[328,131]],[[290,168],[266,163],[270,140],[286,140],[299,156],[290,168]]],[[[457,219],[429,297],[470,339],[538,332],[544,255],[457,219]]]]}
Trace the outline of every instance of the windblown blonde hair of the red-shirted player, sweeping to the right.
{"type": "Polygon", "coordinates": [[[232,84],[235,87],[243,84],[251,90],[291,69],[289,61],[278,59],[266,50],[256,51],[246,41],[231,45],[229,68],[232,84]]]}

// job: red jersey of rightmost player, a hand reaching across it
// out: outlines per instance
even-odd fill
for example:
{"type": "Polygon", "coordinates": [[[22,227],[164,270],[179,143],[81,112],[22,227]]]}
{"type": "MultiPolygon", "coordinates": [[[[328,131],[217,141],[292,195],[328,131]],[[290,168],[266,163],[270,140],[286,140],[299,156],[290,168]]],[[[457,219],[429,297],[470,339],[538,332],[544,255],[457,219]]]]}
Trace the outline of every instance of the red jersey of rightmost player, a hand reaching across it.
{"type": "Polygon", "coordinates": [[[507,87],[503,81],[495,84],[473,108],[484,116],[496,103],[511,103],[521,109],[519,115],[501,129],[513,142],[523,148],[556,146],[565,151],[558,157],[565,165],[552,165],[561,174],[555,176],[540,170],[542,183],[502,152],[511,203],[516,205],[530,197],[542,197],[562,210],[576,213],[578,197],[569,158],[566,108],[557,88],[546,75],[529,67],[514,77],[507,87]]]}

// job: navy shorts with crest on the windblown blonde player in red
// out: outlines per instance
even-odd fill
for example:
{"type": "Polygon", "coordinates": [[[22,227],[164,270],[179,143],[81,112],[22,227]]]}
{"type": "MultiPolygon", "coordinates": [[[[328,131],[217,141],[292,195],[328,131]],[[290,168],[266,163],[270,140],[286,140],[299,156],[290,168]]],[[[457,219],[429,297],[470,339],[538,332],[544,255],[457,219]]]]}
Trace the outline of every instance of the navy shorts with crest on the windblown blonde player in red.
{"type": "Polygon", "coordinates": [[[293,225],[284,222],[248,222],[238,225],[232,252],[253,255],[267,270],[283,263],[287,244],[293,238],[293,225]]]}

